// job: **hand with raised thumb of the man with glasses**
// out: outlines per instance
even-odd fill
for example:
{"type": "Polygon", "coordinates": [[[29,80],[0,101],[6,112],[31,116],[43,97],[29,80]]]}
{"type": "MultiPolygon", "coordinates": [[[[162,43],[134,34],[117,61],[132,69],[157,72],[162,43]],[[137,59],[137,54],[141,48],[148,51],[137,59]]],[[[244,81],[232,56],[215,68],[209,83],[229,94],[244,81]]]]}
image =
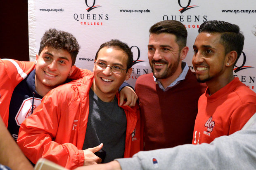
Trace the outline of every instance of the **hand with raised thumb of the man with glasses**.
{"type": "Polygon", "coordinates": [[[101,143],[99,146],[94,148],[88,148],[83,150],[85,161],[83,162],[83,165],[91,165],[91,164],[97,164],[101,163],[101,158],[96,156],[94,153],[102,149],[103,144],[101,143]]]}

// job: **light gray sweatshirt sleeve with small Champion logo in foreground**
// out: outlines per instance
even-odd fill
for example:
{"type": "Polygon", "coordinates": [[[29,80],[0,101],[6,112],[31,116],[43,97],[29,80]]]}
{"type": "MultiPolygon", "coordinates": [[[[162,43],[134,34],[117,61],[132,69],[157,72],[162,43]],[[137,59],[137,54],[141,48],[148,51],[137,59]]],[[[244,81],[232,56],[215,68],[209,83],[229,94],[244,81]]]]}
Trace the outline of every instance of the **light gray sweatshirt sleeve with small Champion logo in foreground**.
{"type": "Polygon", "coordinates": [[[221,136],[210,144],[140,151],[116,159],[122,170],[242,170],[256,169],[256,123],[247,130],[221,136]]]}

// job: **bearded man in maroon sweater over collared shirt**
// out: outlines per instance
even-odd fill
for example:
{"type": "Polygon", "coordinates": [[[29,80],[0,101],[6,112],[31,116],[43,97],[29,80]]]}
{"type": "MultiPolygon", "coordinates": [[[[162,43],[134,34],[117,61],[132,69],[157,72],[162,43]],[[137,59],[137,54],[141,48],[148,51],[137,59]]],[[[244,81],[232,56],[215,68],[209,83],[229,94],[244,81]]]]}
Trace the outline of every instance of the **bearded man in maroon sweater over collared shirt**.
{"type": "Polygon", "coordinates": [[[197,102],[205,84],[197,82],[187,63],[187,30],[166,20],[149,29],[148,58],[152,73],[135,84],[144,125],[144,150],[192,142],[197,102]]]}

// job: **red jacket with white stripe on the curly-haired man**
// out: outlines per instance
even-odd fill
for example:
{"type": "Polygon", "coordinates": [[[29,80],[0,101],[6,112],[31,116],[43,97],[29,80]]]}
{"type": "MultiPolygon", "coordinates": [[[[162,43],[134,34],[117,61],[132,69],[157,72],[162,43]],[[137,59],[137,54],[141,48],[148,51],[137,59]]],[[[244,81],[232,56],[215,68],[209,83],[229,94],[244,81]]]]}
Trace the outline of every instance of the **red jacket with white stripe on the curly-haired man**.
{"type": "MultiPolygon", "coordinates": [[[[0,116],[5,126],[8,126],[9,105],[14,88],[36,68],[35,62],[0,59],[0,116]]],[[[90,70],[76,68],[70,79],[79,79],[91,74],[90,70]]]]}

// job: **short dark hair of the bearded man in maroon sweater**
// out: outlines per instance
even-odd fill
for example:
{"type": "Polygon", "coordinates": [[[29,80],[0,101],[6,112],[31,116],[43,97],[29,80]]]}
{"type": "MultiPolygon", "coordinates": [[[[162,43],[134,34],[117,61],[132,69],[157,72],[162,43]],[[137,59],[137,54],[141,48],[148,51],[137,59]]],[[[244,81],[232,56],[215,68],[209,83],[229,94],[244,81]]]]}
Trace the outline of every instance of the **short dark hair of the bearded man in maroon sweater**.
{"type": "Polygon", "coordinates": [[[155,23],[149,29],[150,34],[169,33],[176,37],[175,42],[179,45],[179,50],[186,47],[187,30],[183,23],[175,20],[165,20],[155,23]]]}

